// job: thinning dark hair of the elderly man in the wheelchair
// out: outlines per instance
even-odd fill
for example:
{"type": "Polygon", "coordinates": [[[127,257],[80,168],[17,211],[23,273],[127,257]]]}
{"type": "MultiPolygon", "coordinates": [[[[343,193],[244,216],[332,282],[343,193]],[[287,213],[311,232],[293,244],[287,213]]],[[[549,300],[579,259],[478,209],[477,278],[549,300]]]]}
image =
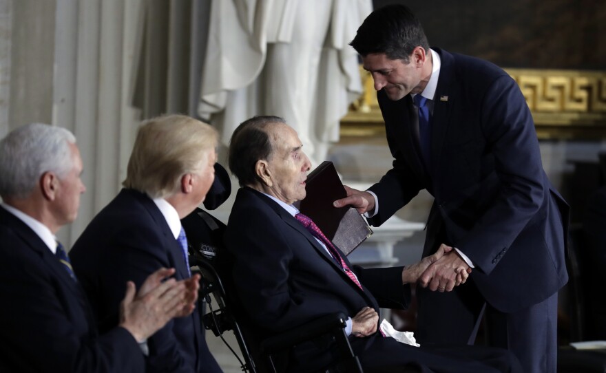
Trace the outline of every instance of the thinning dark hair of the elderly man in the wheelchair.
{"type": "Polygon", "coordinates": [[[255,172],[258,160],[267,160],[273,152],[273,143],[267,133],[272,123],[284,123],[279,116],[253,116],[240,123],[229,140],[229,169],[238,178],[240,187],[259,180],[255,172]]]}

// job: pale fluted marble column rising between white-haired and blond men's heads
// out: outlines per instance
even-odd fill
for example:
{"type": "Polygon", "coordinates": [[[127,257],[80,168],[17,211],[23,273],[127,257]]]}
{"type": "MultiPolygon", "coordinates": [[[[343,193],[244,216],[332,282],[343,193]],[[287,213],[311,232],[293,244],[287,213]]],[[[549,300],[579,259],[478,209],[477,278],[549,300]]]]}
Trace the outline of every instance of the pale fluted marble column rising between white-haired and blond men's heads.
{"type": "Polygon", "coordinates": [[[56,0],[52,124],[78,138],[87,192],[60,232],[73,243],[121,189],[139,122],[130,105],[141,0],[56,0]]]}

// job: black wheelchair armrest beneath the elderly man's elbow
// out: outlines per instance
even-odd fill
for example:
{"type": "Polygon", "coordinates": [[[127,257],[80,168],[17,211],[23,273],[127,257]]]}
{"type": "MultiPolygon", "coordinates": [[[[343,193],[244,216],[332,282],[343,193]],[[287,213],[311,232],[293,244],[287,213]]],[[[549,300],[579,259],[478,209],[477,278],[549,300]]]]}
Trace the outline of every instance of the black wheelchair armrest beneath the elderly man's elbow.
{"type": "Polygon", "coordinates": [[[274,354],[285,348],[317,337],[322,337],[326,334],[341,332],[345,335],[344,329],[346,326],[346,319],[347,317],[345,317],[342,312],[319,317],[302,326],[297,326],[282,334],[264,339],[264,341],[261,342],[261,351],[265,354],[274,354]]]}

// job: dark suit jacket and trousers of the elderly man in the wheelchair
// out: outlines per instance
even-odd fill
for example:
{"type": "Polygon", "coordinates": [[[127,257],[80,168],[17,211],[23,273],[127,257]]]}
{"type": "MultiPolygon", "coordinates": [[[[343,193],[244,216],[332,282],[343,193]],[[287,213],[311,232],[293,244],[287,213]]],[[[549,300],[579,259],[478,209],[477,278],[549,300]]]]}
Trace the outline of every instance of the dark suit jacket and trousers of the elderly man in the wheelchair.
{"type": "MultiPolygon", "coordinates": [[[[378,303],[406,306],[410,301],[410,288],[401,285],[402,267],[354,268],[364,287],[360,290],[295,217],[253,189],[238,190],[225,241],[241,303],[262,335],[283,332],[328,313],[353,317],[366,306],[378,312],[378,303]]],[[[477,348],[430,352],[378,333],[350,337],[350,341],[362,367],[377,371],[408,363],[421,367],[422,372],[488,370],[467,359],[485,358],[477,348]]],[[[498,351],[490,353],[503,357],[498,351]]]]}

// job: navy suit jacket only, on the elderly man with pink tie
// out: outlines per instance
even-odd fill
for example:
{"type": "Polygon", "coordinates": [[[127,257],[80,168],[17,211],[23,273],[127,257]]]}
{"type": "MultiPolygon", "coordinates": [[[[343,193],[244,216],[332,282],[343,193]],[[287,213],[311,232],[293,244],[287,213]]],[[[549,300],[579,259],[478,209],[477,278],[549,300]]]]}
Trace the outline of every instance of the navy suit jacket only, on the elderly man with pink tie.
{"type": "Polygon", "coordinates": [[[244,308],[269,333],[335,312],[354,317],[366,306],[379,312],[375,296],[402,306],[410,299],[402,267],[353,268],[343,255],[362,291],[295,217],[247,187],[238,190],[225,239],[244,308]]]}

